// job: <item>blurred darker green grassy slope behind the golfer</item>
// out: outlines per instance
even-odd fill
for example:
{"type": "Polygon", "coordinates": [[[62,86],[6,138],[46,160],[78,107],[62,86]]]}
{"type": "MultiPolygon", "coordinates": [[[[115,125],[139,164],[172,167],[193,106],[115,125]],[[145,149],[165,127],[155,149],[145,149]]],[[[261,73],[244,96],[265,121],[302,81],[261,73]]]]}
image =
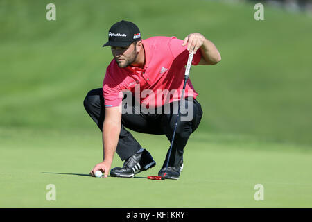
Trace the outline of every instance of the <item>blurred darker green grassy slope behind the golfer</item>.
{"type": "Polygon", "coordinates": [[[125,19],[143,38],[198,32],[216,44],[223,60],[191,73],[200,130],[312,144],[311,1],[261,1],[263,21],[256,2],[2,0],[0,127],[96,130],[83,99],[112,60],[108,29],[125,19]]]}

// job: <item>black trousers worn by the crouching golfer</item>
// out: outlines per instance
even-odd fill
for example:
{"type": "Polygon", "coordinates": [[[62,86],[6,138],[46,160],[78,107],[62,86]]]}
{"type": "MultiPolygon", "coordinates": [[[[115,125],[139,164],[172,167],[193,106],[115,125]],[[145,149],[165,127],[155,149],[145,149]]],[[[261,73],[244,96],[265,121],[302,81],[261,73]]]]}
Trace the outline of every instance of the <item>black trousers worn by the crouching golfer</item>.
{"type": "MultiPolygon", "coordinates": [[[[116,153],[121,157],[121,160],[126,160],[128,157],[137,153],[141,148],[141,145],[131,135],[131,133],[125,129],[129,128],[139,133],[148,133],[155,135],[166,135],[171,142],[173,137],[173,130],[175,128],[175,120],[177,118],[177,106],[178,101],[170,103],[170,113],[162,112],[162,114],[144,114],[139,108],[132,105],[132,112],[130,114],[125,113],[121,115],[121,132],[119,135],[119,142],[116,147],[116,153]],[[137,114],[136,114],[137,113],[137,114]],[[167,113],[167,114],[166,114],[167,113]]],[[[183,104],[183,103],[182,103],[183,104]]],[[[128,104],[129,105],[129,104],[128,104]]],[[[183,150],[187,144],[187,140],[191,133],[193,133],[200,123],[202,118],[202,108],[200,103],[189,97],[184,107],[191,107],[193,105],[193,118],[190,121],[177,121],[177,130],[175,132],[175,139],[173,141],[173,147],[171,151],[171,157],[169,160],[169,167],[175,167],[181,160],[183,160],[183,150]]],[[[98,128],[102,130],[103,121],[105,117],[105,107],[102,89],[93,89],[88,92],[84,101],[85,110],[89,116],[96,122],[98,128]]],[[[169,106],[168,106],[169,107],[169,106]]],[[[164,111],[164,107],[162,108],[164,111]]],[[[180,114],[180,117],[185,117],[187,114],[184,112],[180,114]]],[[[167,152],[168,156],[168,152],[167,152]]],[[[166,158],[167,158],[166,156],[166,158]]],[[[165,166],[166,161],[164,161],[165,166]]]]}

